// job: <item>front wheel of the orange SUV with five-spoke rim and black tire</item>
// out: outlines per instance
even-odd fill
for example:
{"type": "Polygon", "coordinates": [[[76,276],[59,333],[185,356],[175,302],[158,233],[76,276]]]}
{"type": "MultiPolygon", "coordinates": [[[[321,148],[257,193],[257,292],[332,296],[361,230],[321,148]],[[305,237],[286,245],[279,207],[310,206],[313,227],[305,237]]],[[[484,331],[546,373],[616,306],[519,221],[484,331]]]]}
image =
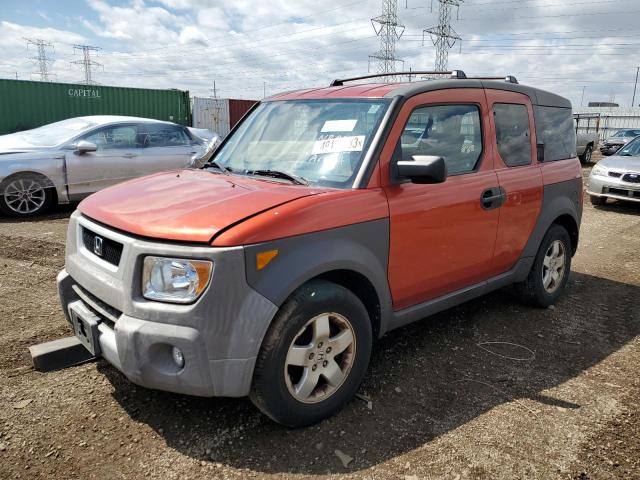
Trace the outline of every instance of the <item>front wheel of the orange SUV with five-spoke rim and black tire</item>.
{"type": "Polygon", "coordinates": [[[288,427],[312,425],[339,411],[369,365],[367,310],[350,290],[323,280],[282,305],[262,343],[251,401],[288,427]]]}

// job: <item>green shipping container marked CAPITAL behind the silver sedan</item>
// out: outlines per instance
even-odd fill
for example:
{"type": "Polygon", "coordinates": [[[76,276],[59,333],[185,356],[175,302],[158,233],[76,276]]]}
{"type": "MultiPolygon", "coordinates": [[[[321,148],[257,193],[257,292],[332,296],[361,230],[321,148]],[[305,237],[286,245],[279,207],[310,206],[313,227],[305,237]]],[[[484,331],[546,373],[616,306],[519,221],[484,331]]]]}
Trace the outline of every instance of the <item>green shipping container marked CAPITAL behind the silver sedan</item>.
{"type": "Polygon", "coordinates": [[[0,135],[83,115],[129,115],[190,126],[189,92],[0,79],[0,135]]]}

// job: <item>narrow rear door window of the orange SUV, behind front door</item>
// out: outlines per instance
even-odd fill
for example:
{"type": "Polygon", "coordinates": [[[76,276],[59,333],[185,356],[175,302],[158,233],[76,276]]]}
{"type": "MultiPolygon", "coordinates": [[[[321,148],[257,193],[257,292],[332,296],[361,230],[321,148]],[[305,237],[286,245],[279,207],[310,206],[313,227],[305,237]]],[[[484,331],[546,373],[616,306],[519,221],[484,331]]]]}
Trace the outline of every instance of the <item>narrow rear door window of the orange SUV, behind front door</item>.
{"type": "Polygon", "coordinates": [[[498,151],[505,165],[516,167],[531,163],[529,113],[524,105],[496,103],[493,106],[498,151]]]}

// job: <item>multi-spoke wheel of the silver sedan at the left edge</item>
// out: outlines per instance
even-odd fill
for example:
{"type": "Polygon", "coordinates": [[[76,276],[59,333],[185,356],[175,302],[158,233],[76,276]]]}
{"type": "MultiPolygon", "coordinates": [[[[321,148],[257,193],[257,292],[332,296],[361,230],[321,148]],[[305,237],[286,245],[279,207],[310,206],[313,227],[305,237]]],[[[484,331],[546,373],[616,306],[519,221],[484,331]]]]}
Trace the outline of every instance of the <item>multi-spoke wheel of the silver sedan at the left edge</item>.
{"type": "Polygon", "coordinates": [[[52,187],[37,175],[9,178],[0,189],[0,210],[12,217],[44,213],[53,203],[52,187]]]}

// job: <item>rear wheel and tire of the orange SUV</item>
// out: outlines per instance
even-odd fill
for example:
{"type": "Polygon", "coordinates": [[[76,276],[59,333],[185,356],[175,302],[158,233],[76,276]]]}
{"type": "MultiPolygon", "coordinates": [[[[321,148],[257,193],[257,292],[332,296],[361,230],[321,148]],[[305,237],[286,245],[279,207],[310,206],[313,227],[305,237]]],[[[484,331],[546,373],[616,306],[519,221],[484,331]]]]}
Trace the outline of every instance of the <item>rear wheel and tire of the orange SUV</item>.
{"type": "Polygon", "coordinates": [[[520,298],[536,307],[553,305],[567,285],[571,253],[571,238],[567,230],[560,225],[552,225],[542,239],[526,280],[515,284],[520,298]]]}

